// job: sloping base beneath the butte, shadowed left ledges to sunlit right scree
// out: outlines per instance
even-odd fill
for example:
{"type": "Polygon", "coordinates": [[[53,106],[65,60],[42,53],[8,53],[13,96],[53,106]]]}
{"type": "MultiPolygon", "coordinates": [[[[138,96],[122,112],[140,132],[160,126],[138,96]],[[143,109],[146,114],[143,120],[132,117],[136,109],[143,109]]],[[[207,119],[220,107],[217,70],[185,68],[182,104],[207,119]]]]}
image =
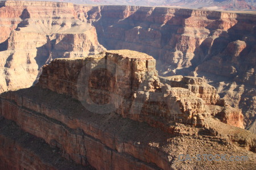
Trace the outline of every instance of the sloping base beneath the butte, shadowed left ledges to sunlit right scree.
{"type": "Polygon", "coordinates": [[[255,134],[208,118],[208,127],[176,124],[170,134],[117,113],[92,113],[80,101],[38,86],[5,92],[0,101],[1,116],[85,167],[88,161],[96,169],[250,169],[256,159],[255,134]],[[210,154],[247,155],[249,160],[212,165],[177,158],[209,150],[210,154]]]}

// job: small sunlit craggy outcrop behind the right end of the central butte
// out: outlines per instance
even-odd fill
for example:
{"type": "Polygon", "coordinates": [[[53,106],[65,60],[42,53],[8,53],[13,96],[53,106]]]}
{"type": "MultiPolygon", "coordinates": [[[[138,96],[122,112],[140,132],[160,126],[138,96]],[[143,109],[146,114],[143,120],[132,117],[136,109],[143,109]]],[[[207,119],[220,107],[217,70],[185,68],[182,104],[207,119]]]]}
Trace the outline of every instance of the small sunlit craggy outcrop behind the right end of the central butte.
{"type": "Polygon", "coordinates": [[[232,108],[226,100],[220,99],[216,89],[205,83],[205,79],[193,76],[159,76],[161,82],[171,87],[187,88],[205,101],[207,112],[226,124],[243,128],[243,115],[241,109],[232,108]],[[221,106],[221,107],[220,107],[221,106]]]}

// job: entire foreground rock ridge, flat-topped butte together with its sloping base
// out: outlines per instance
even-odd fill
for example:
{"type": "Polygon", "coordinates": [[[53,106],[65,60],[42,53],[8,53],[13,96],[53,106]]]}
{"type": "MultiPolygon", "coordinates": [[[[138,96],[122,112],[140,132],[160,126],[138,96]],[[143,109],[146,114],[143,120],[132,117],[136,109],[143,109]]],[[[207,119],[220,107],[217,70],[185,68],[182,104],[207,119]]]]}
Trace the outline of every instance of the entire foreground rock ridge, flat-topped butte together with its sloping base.
{"type": "MultiPolygon", "coordinates": [[[[154,58],[130,50],[55,59],[43,67],[36,86],[0,95],[0,116],[4,117],[0,137],[7,140],[20,135],[22,143],[35,135],[48,143],[46,147],[85,168],[251,169],[256,160],[256,135],[228,125],[230,120],[242,125],[241,112],[227,111],[230,106],[203,79],[180,79],[159,78],[154,58]],[[170,81],[187,86],[172,87],[170,81]],[[190,85],[205,91],[187,89],[190,85]],[[181,162],[180,154],[245,155],[249,160],[181,162]]],[[[20,144],[9,145],[17,148],[20,144]]],[[[0,153],[5,148],[0,147],[0,153]]],[[[9,154],[22,162],[19,152],[26,146],[18,148],[9,154]]],[[[38,167],[42,159],[29,168],[38,167]]]]}

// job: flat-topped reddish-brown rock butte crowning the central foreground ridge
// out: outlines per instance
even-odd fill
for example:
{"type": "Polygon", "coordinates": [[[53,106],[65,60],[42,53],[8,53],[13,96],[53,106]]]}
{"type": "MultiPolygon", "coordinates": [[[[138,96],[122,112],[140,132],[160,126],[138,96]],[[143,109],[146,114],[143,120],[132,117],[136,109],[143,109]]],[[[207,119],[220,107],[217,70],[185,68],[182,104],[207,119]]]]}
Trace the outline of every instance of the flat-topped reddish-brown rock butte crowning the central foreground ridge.
{"type": "MultiPolygon", "coordinates": [[[[203,83],[188,78],[184,81],[203,83]]],[[[161,83],[155,59],[131,50],[54,59],[43,67],[37,86],[79,99],[90,112],[116,112],[171,133],[175,122],[204,126],[207,116],[203,99],[184,87],[161,83]]]]}

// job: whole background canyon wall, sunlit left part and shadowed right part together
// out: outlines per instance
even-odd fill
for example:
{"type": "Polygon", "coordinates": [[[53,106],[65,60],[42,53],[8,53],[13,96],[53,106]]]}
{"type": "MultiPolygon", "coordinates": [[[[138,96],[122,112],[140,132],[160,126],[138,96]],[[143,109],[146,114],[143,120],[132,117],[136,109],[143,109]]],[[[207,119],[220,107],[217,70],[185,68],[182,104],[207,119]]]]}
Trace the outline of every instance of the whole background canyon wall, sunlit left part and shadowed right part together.
{"type": "Polygon", "coordinates": [[[91,50],[95,53],[100,51],[102,48],[98,47],[98,39],[107,49],[131,49],[150,54],[158,59],[156,63],[160,75],[204,77],[226,103],[242,109],[245,126],[255,121],[255,15],[167,7],[83,6],[48,2],[3,1],[1,6],[1,16],[7,15],[0,20],[3,23],[1,29],[6,32],[0,45],[0,53],[5,56],[1,62],[2,91],[31,86],[38,70],[40,73],[40,66],[52,58],[85,56],[91,50]],[[49,10],[46,15],[49,22],[39,20],[34,24],[32,20],[38,19],[33,18],[45,17],[38,12],[42,6],[47,8],[44,10],[49,10]],[[65,11],[61,11],[61,6],[65,11]],[[14,11],[14,7],[22,10],[14,11]],[[33,8],[36,12],[32,12],[33,8]],[[56,18],[58,15],[60,18],[56,18]],[[86,35],[90,36],[73,34],[73,31],[84,28],[88,29],[86,35]],[[34,35],[27,36],[26,30],[34,35]],[[42,34],[38,30],[47,33],[42,34]],[[13,42],[22,35],[26,35],[22,39],[29,37],[32,41],[26,40],[28,45],[13,42]],[[38,46],[34,44],[33,37],[36,37],[38,42],[35,44],[38,46]],[[86,43],[83,44],[84,41],[86,43]],[[16,46],[20,48],[13,52],[16,46]],[[29,50],[29,54],[27,46],[34,49],[29,50]],[[22,60],[17,57],[21,55],[25,56],[22,60]],[[26,82],[20,83],[23,79],[26,82]]]}

